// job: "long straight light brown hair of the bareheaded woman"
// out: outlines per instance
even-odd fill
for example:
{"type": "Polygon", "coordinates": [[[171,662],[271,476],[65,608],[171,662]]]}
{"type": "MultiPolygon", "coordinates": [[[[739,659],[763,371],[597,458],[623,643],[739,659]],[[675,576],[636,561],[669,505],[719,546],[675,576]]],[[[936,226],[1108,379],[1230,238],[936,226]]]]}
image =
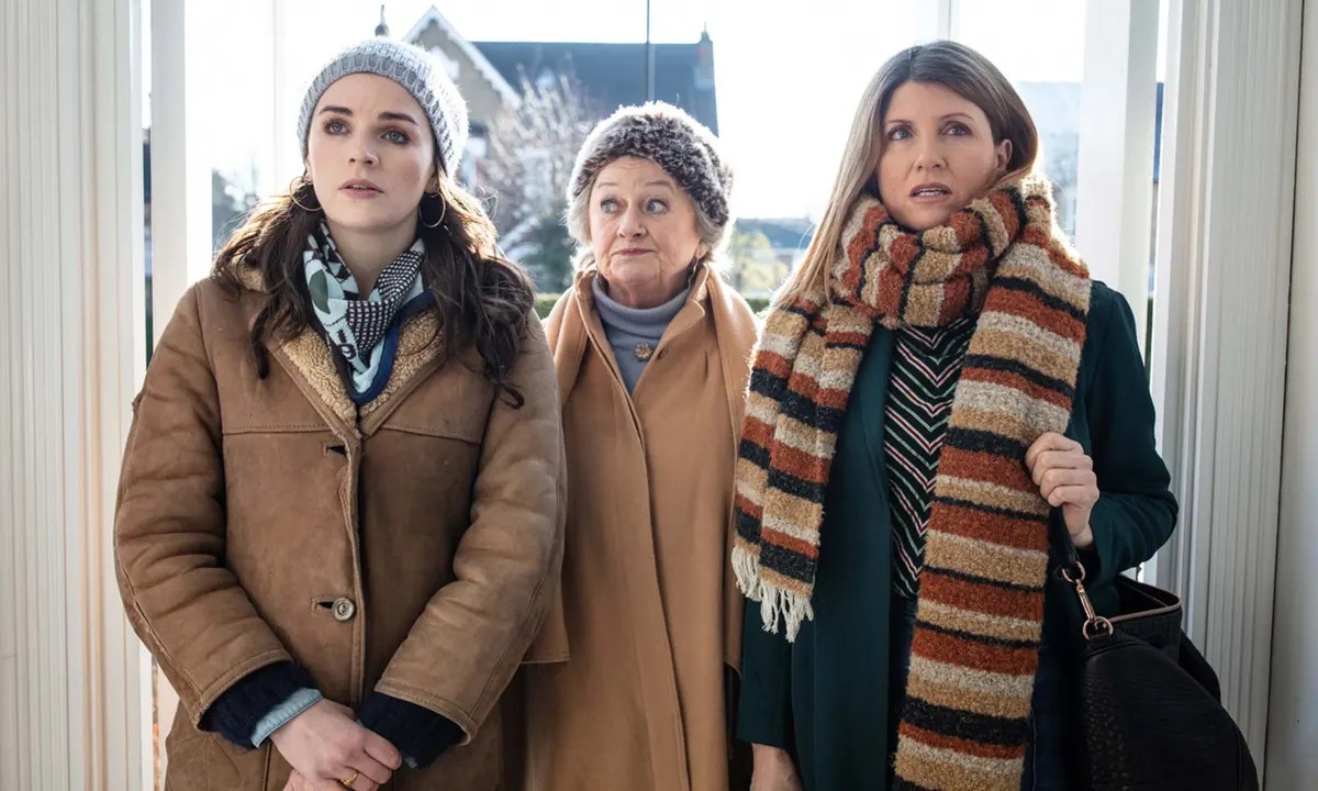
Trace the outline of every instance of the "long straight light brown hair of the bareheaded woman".
{"type": "Polygon", "coordinates": [[[988,117],[994,142],[1011,141],[1011,160],[1002,178],[988,190],[1035,169],[1039,132],[1025,103],[988,58],[954,41],[933,41],[908,47],[888,58],[861,94],[851,120],[842,162],[833,182],[828,208],[800,266],[792,273],[775,303],[784,305],[826,285],[842,227],[865,183],[874,177],[883,144],[883,116],[892,94],[908,82],[938,84],[974,102],[988,117]]]}

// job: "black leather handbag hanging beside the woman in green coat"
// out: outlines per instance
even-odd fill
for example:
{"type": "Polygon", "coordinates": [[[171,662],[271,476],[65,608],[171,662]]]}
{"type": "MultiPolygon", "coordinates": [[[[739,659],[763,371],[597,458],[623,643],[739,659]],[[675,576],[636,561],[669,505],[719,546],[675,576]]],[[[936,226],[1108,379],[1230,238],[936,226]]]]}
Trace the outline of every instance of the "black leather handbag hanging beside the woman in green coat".
{"type": "Polygon", "coordinates": [[[1056,571],[1083,612],[1073,666],[1072,774],[1093,791],[1257,791],[1244,736],[1222,708],[1217,674],[1181,629],[1181,599],[1116,577],[1122,614],[1094,612],[1065,527],[1056,571]]]}

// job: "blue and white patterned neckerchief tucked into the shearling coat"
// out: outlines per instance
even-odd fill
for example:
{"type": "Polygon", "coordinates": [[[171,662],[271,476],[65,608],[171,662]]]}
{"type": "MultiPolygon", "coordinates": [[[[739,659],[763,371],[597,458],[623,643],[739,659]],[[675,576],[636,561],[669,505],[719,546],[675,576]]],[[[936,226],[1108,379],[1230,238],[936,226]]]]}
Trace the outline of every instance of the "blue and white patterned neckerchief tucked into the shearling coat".
{"type": "MultiPolygon", "coordinates": [[[[398,311],[411,301],[424,295],[420,262],[426,257],[426,243],[416,237],[411,248],[381,270],[376,287],[361,297],[361,289],[344,265],[324,223],[307,236],[307,249],[302,253],[311,306],[316,311],[326,341],[343,357],[352,374],[353,401],[362,402],[361,394],[378,393],[393,369],[393,360],[384,360],[381,343],[398,311]],[[382,366],[381,363],[385,361],[382,366]]],[[[366,399],[369,401],[369,398],[366,399]]]]}

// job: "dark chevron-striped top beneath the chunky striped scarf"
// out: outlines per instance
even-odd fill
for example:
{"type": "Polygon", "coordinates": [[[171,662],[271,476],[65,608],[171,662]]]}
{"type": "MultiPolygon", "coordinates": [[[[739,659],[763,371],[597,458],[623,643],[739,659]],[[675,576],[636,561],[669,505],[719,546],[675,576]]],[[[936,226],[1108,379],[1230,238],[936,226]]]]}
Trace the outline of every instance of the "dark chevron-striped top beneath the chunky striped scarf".
{"type": "Polygon", "coordinates": [[[920,592],[938,451],[974,331],[974,316],[946,327],[898,331],[883,421],[883,455],[892,501],[892,588],[907,599],[920,592]]]}

